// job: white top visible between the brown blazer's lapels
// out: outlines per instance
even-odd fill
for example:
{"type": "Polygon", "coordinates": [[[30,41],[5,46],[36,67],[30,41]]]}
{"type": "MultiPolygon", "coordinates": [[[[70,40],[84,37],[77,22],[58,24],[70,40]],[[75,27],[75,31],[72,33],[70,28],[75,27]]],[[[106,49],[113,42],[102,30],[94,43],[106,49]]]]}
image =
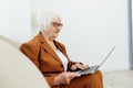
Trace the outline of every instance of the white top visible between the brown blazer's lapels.
{"type": "Polygon", "coordinates": [[[63,67],[64,67],[64,70],[66,70],[68,68],[68,58],[62,54],[62,52],[60,50],[57,51],[57,54],[58,56],[60,57],[62,64],[63,64],[63,67]]]}

